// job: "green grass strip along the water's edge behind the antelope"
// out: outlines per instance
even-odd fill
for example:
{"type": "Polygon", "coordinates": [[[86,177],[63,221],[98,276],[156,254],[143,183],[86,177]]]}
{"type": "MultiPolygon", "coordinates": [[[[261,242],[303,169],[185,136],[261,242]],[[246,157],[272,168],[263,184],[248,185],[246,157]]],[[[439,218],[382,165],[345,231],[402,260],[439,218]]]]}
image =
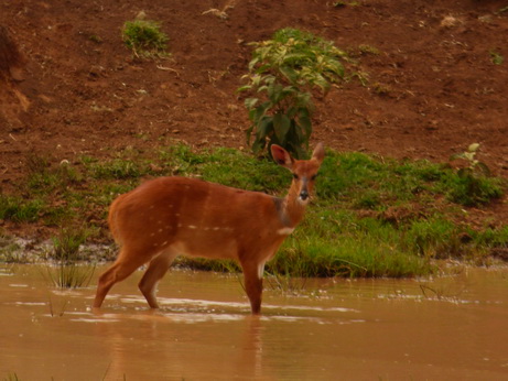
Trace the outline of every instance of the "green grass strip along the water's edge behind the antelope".
{"type": "MultiPolygon", "coordinates": [[[[31,157],[29,164],[17,190],[0,194],[0,218],[80,226],[87,232],[84,241],[108,239],[109,204],[147,178],[184,175],[279,196],[285,195],[291,182],[287,170],[268,160],[238,150],[195,151],[186,145],[160,146],[150,153],[126,150],[109,160],[83,156],[64,164],[31,157]]],[[[482,225],[477,219],[473,226],[465,217],[469,205],[482,208],[501,197],[507,183],[480,174],[474,174],[474,181],[477,185],[465,186],[464,172],[447,164],[328,150],[304,221],[269,262],[267,272],[400,277],[431,273],[434,259],[484,263],[491,252],[508,249],[508,227],[493,220],[482,225]]],[[[54,242],[64,251],[83,243],[68,231],[54,242]]],[[[238,270],[224,261],[184,259],[179,263],[238,270]]]]}

